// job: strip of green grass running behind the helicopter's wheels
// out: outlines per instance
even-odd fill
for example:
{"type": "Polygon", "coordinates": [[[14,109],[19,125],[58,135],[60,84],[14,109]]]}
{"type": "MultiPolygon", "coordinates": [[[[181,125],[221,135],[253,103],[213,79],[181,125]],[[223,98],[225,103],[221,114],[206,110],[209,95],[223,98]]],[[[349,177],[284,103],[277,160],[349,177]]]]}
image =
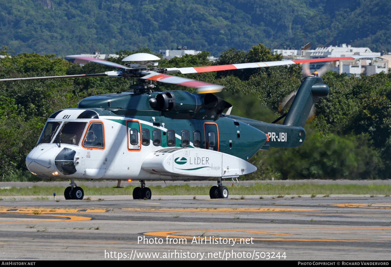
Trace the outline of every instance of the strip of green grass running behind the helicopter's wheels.
{"type": "MultiPolygon", "coordinates": [[[[127,195],[131,196],[135,186],[126,186],[123,189],[116,189],[113,187],[92,187],[81,184],[84,193],[88,196],[117,196],[127,195]]],[[[290,185],[282,184],[260,184],[245,186],[245,185],[226,185],[231,195],[239,195],[240,199],[246,199],[248,195],[275,195],[283,197],[286,195],[322,195],[330,194],[370,194],[389,195],[391,192],[391,185],[341,185],[341,184],[326,184],[317,185],[311,183],[293,183],[290,185]]],[[[210,186],[190,186],[190,185],[167,185],[167,186],[149,186],[155,196],[176,196],[176,195],[206,195],[209,192],[210,186]]],[[[64,192],[65,187],[53,186],[33,186],[28,187],[12,187],[11,189],[0,189],[0,196],[50,196],[53,192],[64,192]]],[[[62,195],[62,193],[58,194],[62,195]]],[[[300,197],[300,196],[298,196],[300,197]]],[[[45,197],[41,197],[42,199],[45,197]]],[[[40,198],[40,199],[41,199],[40,198]]],[[[86,198],[87,199],[87,198],[86,198]]],[[[262,198],[260,198],[262,199],[262,198]]],[[[99,200],[98,200],[99,201],[99,200]]]]}

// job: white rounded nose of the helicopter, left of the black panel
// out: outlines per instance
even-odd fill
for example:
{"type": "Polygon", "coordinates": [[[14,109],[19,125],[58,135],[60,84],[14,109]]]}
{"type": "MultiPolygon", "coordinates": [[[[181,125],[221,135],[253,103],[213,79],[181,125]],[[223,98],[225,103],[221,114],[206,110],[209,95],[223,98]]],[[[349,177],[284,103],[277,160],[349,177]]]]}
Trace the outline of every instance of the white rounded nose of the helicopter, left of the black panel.
{"type": "Polygon", "coordinates": [[[48,175],[55,171],[54,156],[58,153],[57,146],[38,146],[26,157],[26,166],[31,173],[48,175]]]}

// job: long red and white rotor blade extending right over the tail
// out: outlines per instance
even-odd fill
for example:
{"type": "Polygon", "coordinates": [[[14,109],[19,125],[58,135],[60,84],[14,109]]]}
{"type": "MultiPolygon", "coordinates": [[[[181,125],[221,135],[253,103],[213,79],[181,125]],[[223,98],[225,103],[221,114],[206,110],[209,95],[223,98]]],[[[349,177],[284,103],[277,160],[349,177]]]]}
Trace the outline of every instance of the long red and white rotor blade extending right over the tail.
{"type": "MultiPolygon", "coordinates": [[[[264,68],[273,66],[284,66],[299,63],[313,63],[313,62],[326,62],[326,61],[339,61],[344,59],[362,59],[368,56],[352,56],[352,57],[323,57],[319,59],[298,59],[298,60],[283,60],[283,61],[269,61],[269,62],[254,62],[254,63],[241,63],[241,64],[229,64],[229,65],[217,65],[217,66],[203,66],[203,67],[190,67],[190,68],[167,68],[167,72],[187,73],[200,73],[208,71],[224,71],[231,69],[248,69],[248,68],[264,68]]],[[[377,57],[377,56],[369,56],[377,57]]],[[[380,58],[381,57],[377,57],[380,58]]]]}

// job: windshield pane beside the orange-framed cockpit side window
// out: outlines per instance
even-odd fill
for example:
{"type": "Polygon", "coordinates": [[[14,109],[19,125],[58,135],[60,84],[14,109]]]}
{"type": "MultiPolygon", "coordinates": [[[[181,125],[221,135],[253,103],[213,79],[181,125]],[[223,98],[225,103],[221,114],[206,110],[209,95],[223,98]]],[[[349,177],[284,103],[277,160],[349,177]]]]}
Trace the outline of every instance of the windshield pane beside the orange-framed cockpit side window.
{"type": "Polygon", "coordinates": [[[72,144],[78,146],[81,137],[83,137],[86,122],[66,121],[63,128],[57,133],[56,143],[72,144]]]}

